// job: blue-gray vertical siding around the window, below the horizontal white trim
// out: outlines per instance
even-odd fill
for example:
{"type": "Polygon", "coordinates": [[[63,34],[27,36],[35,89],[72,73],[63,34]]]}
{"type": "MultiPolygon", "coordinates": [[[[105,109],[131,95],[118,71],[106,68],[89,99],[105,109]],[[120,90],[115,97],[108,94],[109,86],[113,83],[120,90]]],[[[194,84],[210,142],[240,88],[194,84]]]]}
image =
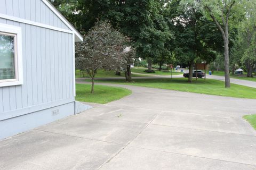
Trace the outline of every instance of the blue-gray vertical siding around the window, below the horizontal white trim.
{"type": "Polygon", "coordinates": [[[21,27],[23,54],[23,84],[0,88],[0,121],[2,114],[17,109],[74,100],[73,34],[4,19],[0,23],[21,27]]]}

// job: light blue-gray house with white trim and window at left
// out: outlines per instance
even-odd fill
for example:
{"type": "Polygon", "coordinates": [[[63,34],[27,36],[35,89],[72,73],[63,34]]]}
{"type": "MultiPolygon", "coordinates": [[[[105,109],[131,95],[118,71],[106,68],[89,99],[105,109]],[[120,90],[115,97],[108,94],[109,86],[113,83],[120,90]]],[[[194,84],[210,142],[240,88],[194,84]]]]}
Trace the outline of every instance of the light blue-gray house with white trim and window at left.
{"type": "Polygon", "coordinates": [[[0,4],[0,139],[86,109],[75,102],[79,32],[46,0],[0,4]]]}

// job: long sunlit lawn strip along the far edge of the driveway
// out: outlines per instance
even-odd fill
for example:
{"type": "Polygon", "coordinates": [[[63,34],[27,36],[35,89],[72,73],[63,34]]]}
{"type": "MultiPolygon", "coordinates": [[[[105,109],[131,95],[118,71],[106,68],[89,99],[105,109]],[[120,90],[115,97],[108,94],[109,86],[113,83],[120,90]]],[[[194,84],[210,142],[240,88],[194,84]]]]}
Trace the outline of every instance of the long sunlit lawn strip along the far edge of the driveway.
{"type": "Polygon", "coordinates": [[[134,86],[143,86],[159,89],[170,89],[187,92],[195,92],[199,94],[230,96],[238,98],[256,99],[256,89],[237,84],[231,84],[231,88],[225,88],[225,82],[212,79],[193,80],[188,83],[185,78],[173,79],[136,79],[135,82],[124,82],[124,80],[97,80],[97,82],[129,84],[134,86]]]}

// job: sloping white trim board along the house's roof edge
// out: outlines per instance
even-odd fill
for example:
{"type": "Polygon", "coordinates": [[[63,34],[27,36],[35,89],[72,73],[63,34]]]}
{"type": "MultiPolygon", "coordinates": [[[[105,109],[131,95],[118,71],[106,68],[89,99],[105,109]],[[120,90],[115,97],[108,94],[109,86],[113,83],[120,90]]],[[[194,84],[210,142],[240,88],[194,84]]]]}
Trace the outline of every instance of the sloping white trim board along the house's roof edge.
{"type": "Polygon", "coordinates": [[[41,0],[48,6],[52,12],[54,12],[61,21],[63,21],[67,27],[75,33],[75,41],[83,41],[83,36],[73,27],[73,25],[63,16],[49,1],[41,0]]]}

